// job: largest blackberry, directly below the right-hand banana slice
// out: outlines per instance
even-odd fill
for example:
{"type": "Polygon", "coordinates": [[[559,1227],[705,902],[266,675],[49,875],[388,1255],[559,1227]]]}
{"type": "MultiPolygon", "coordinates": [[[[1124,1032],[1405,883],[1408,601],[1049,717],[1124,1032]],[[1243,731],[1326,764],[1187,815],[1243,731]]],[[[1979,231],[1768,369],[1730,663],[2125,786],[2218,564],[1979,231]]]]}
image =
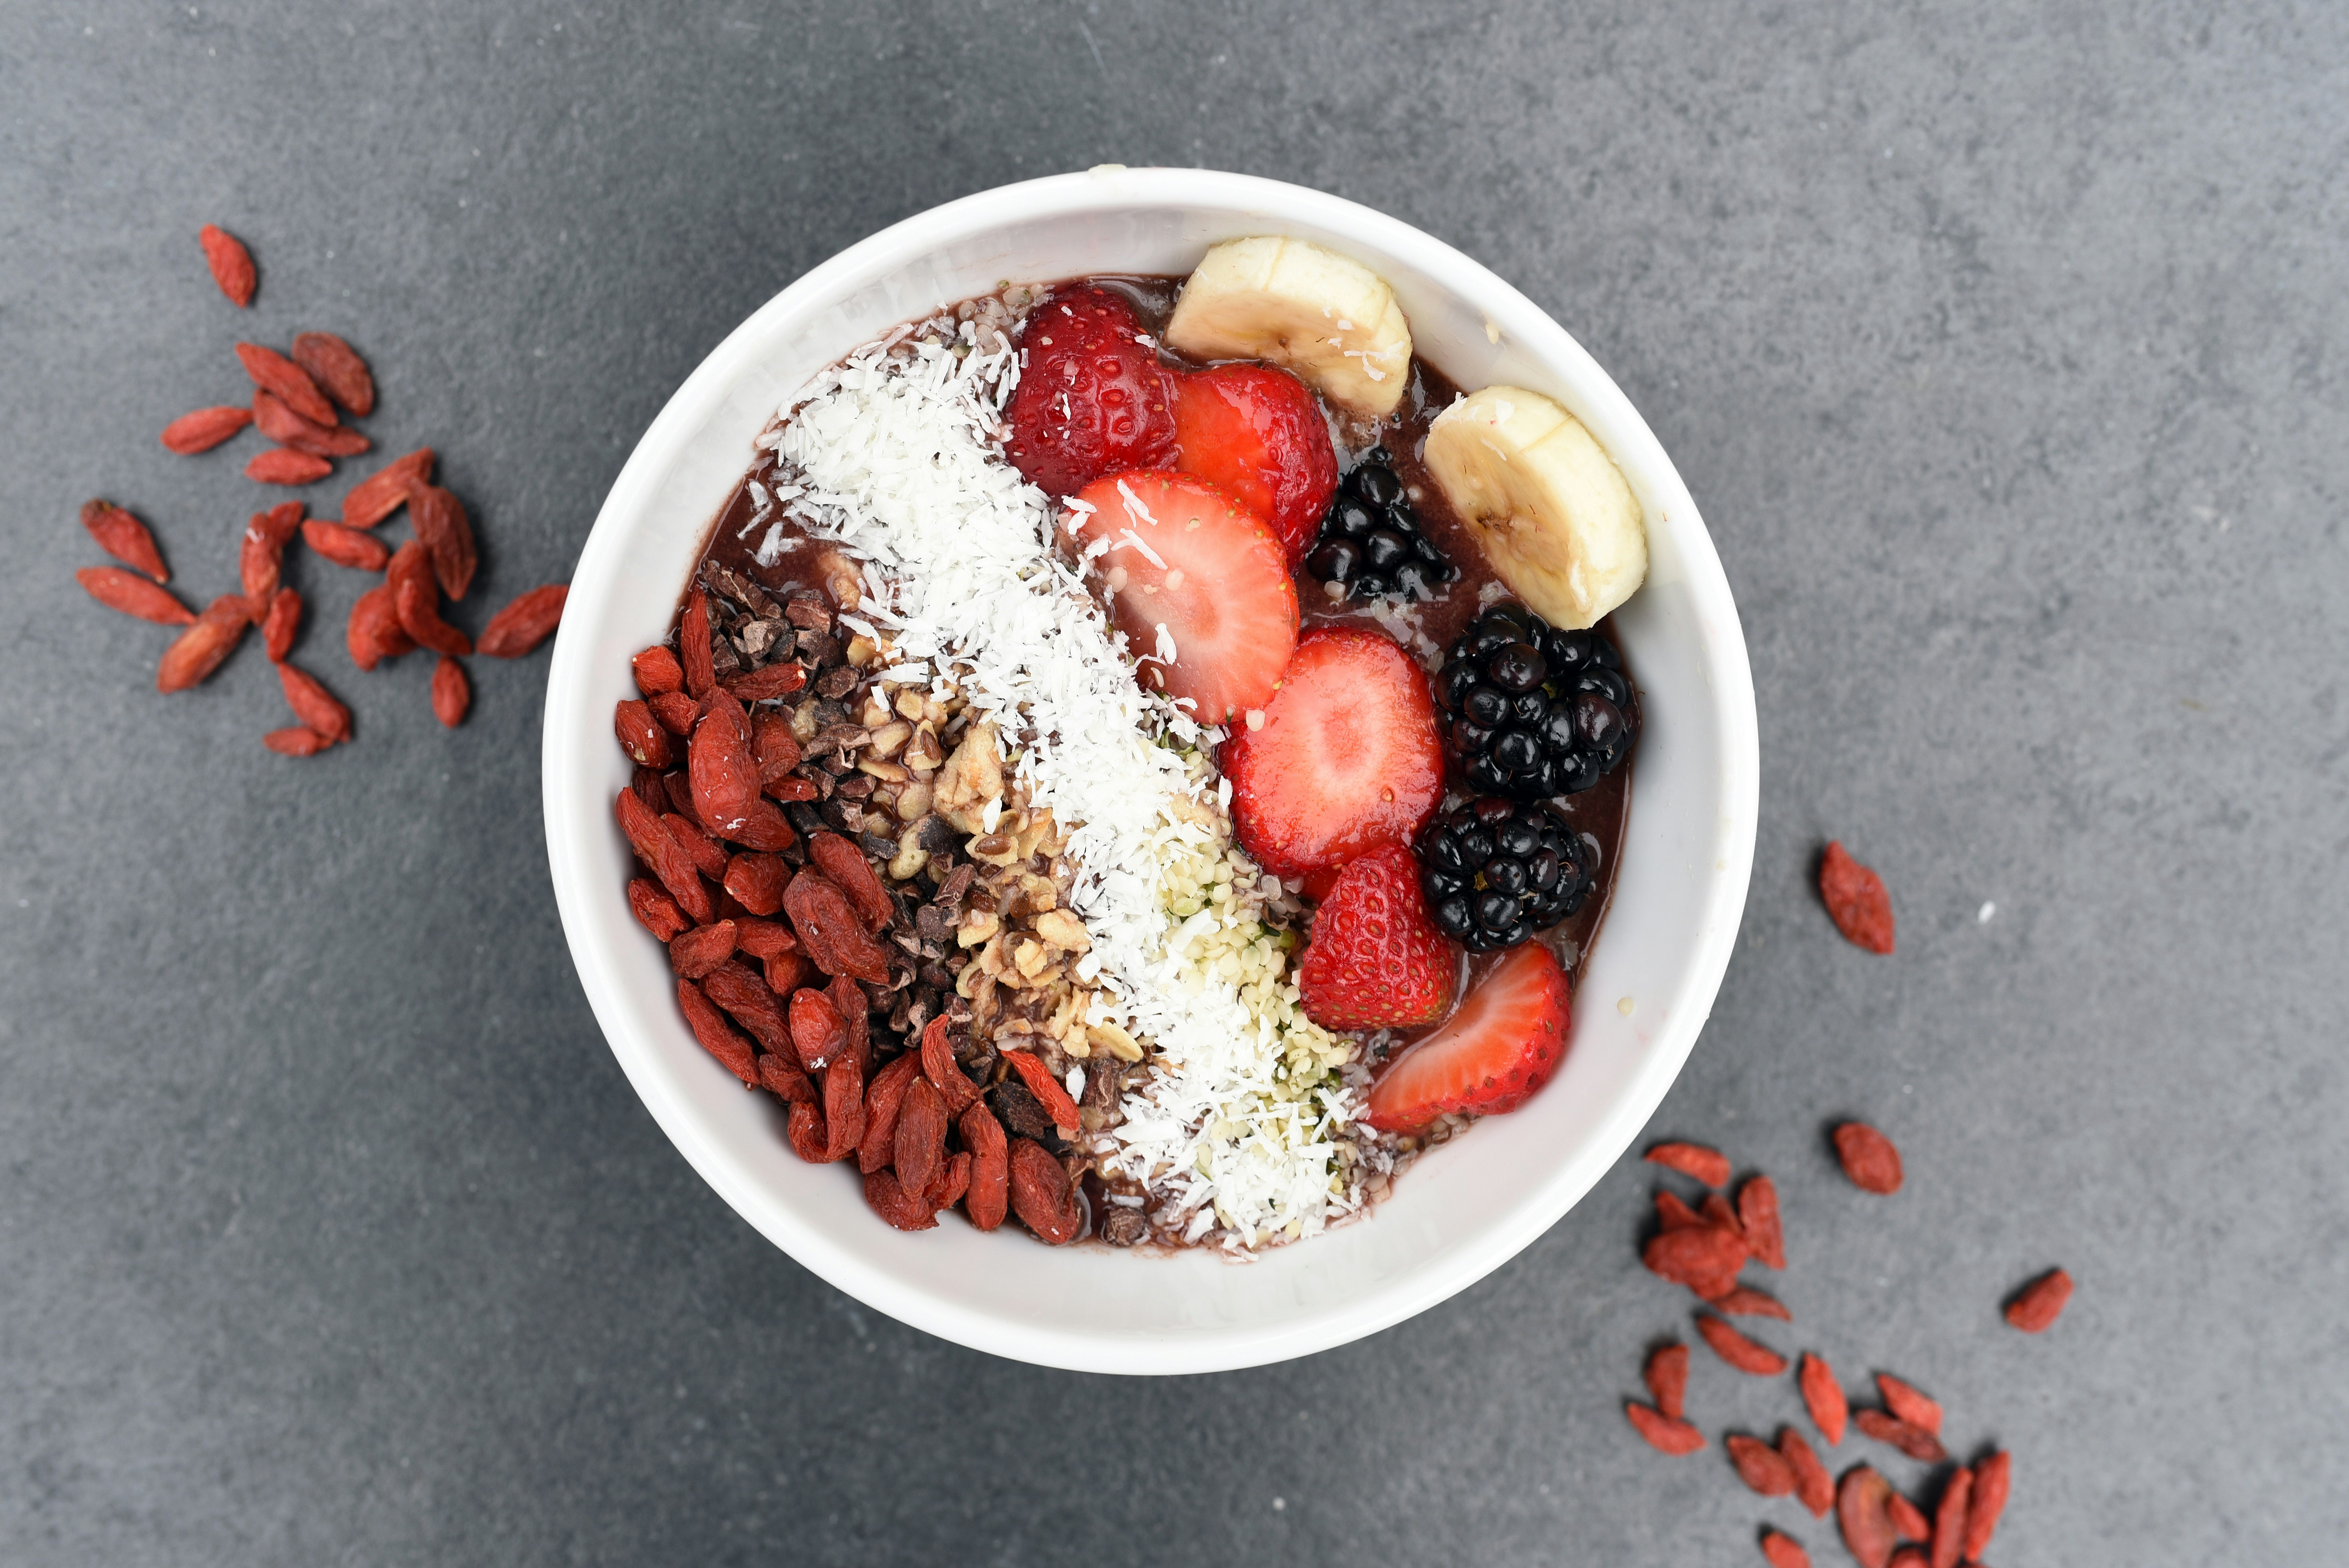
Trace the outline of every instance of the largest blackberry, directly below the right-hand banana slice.
{"type": "Polygon", "coordinates": [[[1597,631],[1557,631],[1522,603],[1485,610],[1435,676],[1445,749],[1485,796],[1574,796],[1630,756],[1640,697],[1597,631]]]}

